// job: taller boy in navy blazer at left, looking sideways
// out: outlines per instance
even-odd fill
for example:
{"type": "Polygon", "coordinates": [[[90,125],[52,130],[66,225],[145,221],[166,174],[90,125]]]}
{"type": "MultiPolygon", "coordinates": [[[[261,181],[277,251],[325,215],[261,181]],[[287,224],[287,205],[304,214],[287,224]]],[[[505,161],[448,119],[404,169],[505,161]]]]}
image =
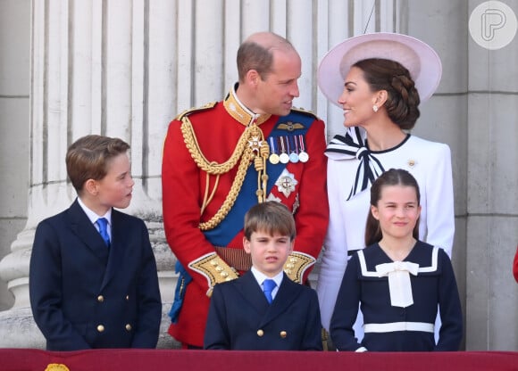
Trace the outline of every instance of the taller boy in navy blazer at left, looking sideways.
{"type": "Polygon", "coordinates": [[[162,301],[147,228],[113,209],[131,201],[128,151],[94,135],[67,151],[78,198],[38,224],[30,257],[30,306],[47,350],[156,346],[162,301]]]}

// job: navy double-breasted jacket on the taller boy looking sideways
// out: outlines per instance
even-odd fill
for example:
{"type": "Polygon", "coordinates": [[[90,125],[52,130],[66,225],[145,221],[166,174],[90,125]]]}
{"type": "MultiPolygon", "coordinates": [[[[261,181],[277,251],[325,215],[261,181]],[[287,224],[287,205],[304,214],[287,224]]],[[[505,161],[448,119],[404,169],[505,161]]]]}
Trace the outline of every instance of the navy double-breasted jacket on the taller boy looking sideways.
{"type": "Polygon", "coordinates": [[[43,220],[29,296],[47,350],[155,348],[162,301],[144,221],[112,210],[108,248],[77,200],[43,220]]]}

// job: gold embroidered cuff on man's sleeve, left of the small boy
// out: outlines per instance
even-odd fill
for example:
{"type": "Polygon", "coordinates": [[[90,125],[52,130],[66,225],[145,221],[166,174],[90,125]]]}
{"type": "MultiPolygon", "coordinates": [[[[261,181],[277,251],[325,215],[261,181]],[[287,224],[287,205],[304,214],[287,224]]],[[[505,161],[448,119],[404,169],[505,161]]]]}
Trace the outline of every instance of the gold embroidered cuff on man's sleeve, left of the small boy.
{"type": "Polygon", "coordinates": [[[188,268],[196,270],[200,275],[205,276],[209,284],[207,296],[213,294],[215,284],[231,281],[238,278],[238,273],[222,260],[215,252],[210,252],[196,260],[188,263],[188,268]]]}

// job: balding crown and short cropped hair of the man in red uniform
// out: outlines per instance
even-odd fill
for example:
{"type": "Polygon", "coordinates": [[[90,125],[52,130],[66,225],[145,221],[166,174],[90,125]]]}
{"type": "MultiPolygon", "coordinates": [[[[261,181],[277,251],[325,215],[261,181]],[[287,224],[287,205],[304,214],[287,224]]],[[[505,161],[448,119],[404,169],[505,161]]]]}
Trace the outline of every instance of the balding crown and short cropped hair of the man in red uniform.
{"type": "Polygon", "coordinates": [[[243,81],[249,70],[256,70],[264,80],[272,72],[275,49],[295,50],[286,38],[272,32],[259,32],[246,38],[238,49],[239,81],[243,81]]]}

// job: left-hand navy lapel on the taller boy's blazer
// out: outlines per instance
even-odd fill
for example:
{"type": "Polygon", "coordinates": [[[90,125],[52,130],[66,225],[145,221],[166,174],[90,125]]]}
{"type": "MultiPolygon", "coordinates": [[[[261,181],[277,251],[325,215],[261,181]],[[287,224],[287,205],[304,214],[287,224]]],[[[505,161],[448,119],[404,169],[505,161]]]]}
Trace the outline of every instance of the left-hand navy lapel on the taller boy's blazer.
{"type": "Polygon", "coordinates": [[[71,217],[73,233],[94,252],[96,257],[105,262],[108,257],[108,249],[104,244],[103,237],[99,235],[85,211],[81,209],[77,199],[71,204],[68,213],[71,217]]]}

